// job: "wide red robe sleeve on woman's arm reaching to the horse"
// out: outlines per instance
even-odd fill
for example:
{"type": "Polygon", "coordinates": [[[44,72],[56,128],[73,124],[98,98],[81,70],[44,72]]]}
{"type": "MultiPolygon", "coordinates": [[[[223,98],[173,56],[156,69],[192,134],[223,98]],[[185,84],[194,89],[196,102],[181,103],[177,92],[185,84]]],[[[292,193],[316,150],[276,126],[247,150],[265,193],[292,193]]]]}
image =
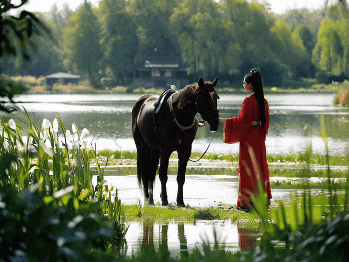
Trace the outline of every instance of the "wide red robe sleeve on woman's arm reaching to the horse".
{"type": "Polygon", "coordinates": [[[250,97],[246,97],[241,105],[241,111],[237,117],[225,119],[223,123],[223,142],[233,144],[244,139],[252,123],[253,104],[250,97]]]}

